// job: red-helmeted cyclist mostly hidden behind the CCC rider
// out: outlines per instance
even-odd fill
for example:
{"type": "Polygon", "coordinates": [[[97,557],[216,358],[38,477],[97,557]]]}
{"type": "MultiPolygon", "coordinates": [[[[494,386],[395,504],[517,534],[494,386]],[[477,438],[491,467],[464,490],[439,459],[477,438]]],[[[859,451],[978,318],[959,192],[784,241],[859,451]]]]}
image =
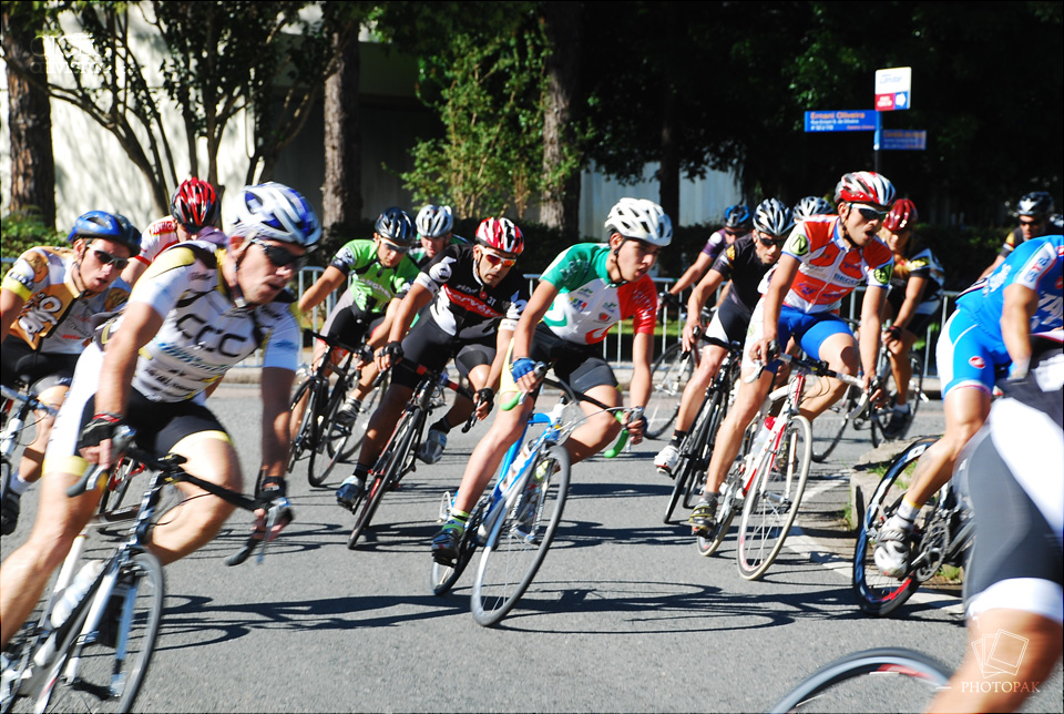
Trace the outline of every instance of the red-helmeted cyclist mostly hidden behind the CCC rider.
{"type": "Polygon", "coordinates": [[[158,254],[185,241],[207,241],[225,247],[227,238],[217,228],[222,214],[218,194],[206,181],[187,178],[177,186],[170,201],[170,215],[144,230],[141,252],[122,272],[122,279],[135,285],[158,254]]]}

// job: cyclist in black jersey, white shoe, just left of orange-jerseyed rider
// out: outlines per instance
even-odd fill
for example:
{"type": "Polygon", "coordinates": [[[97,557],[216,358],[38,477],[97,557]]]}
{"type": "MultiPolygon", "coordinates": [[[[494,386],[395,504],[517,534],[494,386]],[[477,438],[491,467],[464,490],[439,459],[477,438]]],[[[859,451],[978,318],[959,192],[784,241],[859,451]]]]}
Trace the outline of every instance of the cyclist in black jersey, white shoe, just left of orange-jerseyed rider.
{"type": "Polygon", "coordinates": [[[754,232],[725,248],[706,276],[692,290],[687,300],[684,349],[697,348],[696,334],[705,334],[709,344],[702,351],[698,369],[684,388],[673,438],[654,458],[654,466],[658,471],[673,475],[673,468],[679,458],[679,447],[698,412],[703,395],[728,354],[730,344],[743,341],[746,336],[754,306],[761,297],[757,290],[758,285],[779,259],[780,247],[794,227],[795,217],[790,208],[776,198],[763,201],[754,212],[754,232]],[[732,280],[732,289],[727,297],[720,300],[709,328],[705,329],[702,324],[702,306],[717,287],[728,279],[732,280]]]}

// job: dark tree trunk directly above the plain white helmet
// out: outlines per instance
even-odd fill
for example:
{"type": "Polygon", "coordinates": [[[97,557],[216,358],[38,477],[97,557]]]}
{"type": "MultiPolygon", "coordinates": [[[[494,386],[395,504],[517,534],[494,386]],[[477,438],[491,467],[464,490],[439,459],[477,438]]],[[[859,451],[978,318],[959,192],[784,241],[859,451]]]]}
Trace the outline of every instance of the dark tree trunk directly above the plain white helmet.
{"type": "MultiPolygon", "coordinates": [[[[551,54],[546,62],[548,89],[543,116],[543,175],[565,161],[565,149],[577,151],[573,122],[579,121],[574,100],[580,94],[580,2],[544,2],[543,17],[551,54]]],[[[580,231],[580,166],[561,183],[543,192],[540,220],[572,238],[580,231]]]]}

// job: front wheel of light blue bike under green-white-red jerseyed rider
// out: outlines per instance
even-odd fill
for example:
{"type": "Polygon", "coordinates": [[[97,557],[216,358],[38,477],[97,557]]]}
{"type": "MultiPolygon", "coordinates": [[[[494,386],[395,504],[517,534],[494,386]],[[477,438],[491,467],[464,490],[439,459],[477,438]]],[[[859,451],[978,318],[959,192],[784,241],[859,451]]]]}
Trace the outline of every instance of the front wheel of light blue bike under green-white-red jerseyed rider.
{"type": "Polygon", "coordinates": [[[562,520],[569,492],[569,452],[552,446],[535,461],[495,521],[473,581],[473,619],[490,626],[502,620],[532,583],[562,520]],[[538,478],[536,473],[544,473],[538,478]]]}

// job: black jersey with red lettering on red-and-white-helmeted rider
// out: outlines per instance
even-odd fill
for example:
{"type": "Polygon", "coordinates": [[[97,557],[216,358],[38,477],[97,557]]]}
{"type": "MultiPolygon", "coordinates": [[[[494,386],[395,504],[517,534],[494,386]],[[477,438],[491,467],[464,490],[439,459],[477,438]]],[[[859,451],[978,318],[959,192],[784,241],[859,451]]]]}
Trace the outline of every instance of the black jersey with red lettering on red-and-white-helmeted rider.
{"type": "Polygon", "coordinates": [[[511,269],[492,287],[477,274],[473,246],[450,245],[440,251],[415,278],[432,293],[432,320],[447,334],[479,339],[499,329],[513,330],[529,304],[528,280],[511,269]],[[501,320],[501,322],[500,322],[501,320]]]}

